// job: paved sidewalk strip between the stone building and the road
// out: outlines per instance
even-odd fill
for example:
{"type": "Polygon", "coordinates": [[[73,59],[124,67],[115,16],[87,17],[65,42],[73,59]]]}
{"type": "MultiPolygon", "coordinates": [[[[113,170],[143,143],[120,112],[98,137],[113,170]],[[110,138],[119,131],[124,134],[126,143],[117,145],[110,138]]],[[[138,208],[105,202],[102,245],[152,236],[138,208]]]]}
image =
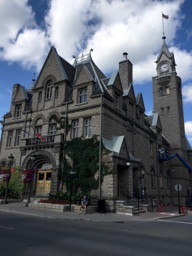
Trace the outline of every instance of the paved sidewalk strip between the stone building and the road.
{"type": "MultiPolygon", "coordinates": [[[[0,204],[0,212],[24,214],[31,216],[38,216],[41,218],[53,218],[53,219],[84,219],[84,220],[94,220],[94,221],[126,221],[126,220],[153,220],[153,219],[167,219],[167,218],[177,218],[182,217],[187,214],[178,214],[179,207],[175,206],[165,206],[164,212],[146,212],[139,213],[134,216],[122,215],[116,213],[93,213],[86,214],[83,213],[79,215],[76,212],[57,212],[53,210],[44,210],[36,207],[25,207],[25,202],[14,202],[9,204],[0,204]]],[[[190,208],[187,207],[188,215],[192,214],[190,208]]]]}

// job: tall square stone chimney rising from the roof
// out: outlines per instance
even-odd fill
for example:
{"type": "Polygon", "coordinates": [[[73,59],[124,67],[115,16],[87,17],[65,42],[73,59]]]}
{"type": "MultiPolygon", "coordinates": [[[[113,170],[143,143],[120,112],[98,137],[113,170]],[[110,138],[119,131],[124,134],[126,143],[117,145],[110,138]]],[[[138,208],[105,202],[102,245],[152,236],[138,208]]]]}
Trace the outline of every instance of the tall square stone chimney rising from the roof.
{"type": "Polygon", "coordinates": [[[132,62],[127,59],[127,52],[123,53],[124,60],[119,62],[120,81],[123,90],[132,83],[132,62]]]}

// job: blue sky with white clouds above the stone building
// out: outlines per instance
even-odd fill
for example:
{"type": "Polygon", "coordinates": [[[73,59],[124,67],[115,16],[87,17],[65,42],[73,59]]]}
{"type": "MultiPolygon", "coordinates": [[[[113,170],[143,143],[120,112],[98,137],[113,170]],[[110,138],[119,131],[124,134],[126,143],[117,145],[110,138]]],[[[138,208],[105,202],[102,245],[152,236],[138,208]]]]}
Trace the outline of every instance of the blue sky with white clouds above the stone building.
{"type": "Polygon", "coordinates": [[[51,46],[71,64],[87,54],[110,76],[123,52],[133,64],[133,87],[153,110],[152,77],[163,40],[182,79],[185,133],[192,145],[192,0],[0,0],[0,120],[12,87],[32,84],[51,46]]]}

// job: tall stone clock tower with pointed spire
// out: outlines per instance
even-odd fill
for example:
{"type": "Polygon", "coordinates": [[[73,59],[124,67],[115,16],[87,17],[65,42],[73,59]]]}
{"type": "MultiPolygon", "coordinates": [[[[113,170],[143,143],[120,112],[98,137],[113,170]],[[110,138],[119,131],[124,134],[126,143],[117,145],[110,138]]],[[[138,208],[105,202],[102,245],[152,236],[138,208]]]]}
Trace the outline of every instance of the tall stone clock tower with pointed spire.
{"type": "MultiPolygon", "coordinates": [[[[174,54],[169,52],[165,39],[166,37],[163,37],[163,45],[155,61],[157,75],[152,77],[154,113],[159,113],[162,135],[169,142],[169,156],[178,153],[187,160],[181,79],[176,73],[174,54]]],[[[177,203],[177,191],[174,191],[173,188],[175,184],[179,183],[182,186],[180,195],[185,200],[184,198],[187,197],[187,191],[189,190],[189,171],[178,158],[170,160],[167,164],[169,169],[170,167],[174,169],[174,172],[171,172],[170,175],[172,195],[175,197],[174,203],[177,203]]],[[[166,175],[166,173],[164,174],[166,175]]]]}

